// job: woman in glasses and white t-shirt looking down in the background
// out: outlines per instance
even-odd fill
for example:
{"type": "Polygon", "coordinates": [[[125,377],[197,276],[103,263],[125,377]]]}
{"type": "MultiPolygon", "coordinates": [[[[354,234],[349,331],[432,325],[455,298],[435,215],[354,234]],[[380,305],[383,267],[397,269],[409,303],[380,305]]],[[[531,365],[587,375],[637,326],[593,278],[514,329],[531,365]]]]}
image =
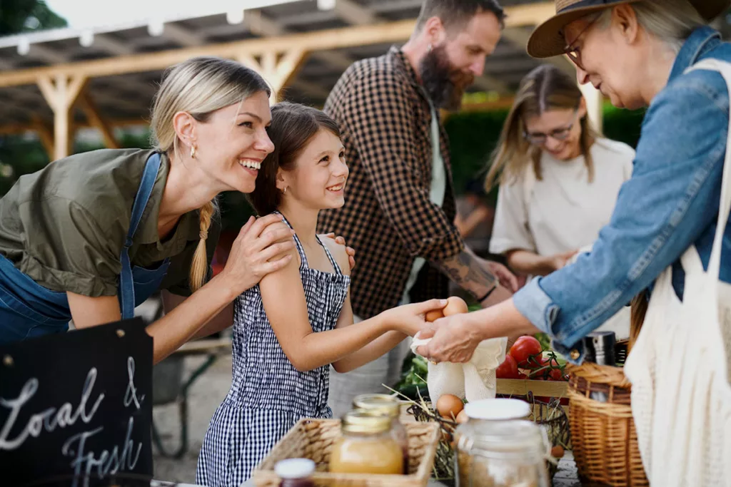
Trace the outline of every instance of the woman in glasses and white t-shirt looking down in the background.
{"type": "MultiPolygon", "coordinates": [[[[609,223],[635,150],[589,123],[575,80],[552,64],[520,83],[485,188],[500,183],[490,251],[515,272],[545,276],[588,250],[609,223]]],[[[629,335],[629,312],[602,329],[629,335]]]]}

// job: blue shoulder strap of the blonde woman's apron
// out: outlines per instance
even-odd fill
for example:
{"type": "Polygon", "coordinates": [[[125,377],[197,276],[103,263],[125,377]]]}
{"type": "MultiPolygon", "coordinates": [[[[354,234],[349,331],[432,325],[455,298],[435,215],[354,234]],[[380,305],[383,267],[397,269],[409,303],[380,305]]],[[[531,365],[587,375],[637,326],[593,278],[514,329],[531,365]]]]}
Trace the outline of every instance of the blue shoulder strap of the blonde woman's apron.
{"type": "Polygon", "coordinates": [[[129,261],[129,248],[132,247],[132,238],[135,237],[137,226],[140,225],[143,212],[150,200],[159,169],[160,155],[159,153],[154,153],[148,158],[145,164],[140,189],[137,191],[137,196],[135,196],[135,203],[132,204],[132,219],[129,221],[129,230],[127,231],[120,256],[122,270],[119,275],[119,301],[121,303],[123,320],[129,320],[135,316],[135,285],[132,280],[132,263],[129,261]]]}

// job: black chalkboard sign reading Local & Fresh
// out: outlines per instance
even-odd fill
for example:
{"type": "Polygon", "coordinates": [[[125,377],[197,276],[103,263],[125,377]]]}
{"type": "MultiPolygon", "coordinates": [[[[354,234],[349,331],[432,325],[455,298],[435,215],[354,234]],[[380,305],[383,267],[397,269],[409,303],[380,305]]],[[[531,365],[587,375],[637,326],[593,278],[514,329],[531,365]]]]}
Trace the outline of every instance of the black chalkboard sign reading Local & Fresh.
{"type": "Polygon", "coordinates": [[[0,347],[0,486],[149,486],[151,425],[140,318],[0,347]]]}

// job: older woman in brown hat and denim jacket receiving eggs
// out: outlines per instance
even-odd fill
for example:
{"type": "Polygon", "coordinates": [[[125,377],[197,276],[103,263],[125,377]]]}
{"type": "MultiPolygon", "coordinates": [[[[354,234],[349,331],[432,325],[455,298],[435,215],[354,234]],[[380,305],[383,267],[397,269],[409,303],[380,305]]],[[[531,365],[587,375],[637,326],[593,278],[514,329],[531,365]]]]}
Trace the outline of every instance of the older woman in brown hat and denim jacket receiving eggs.
{"type": "Polygon", "coordinates": [[[632,177],[591,253],[507,302],[420,334],[431,341],[419,353],[461,362],[481,340],[542,331],[581,363],[583,338],[634,296],[649,295],[625,372],[645,470],[658,486],[731,478],[731,45],[708,26],[729,4],[556,0],[529,54],[566,54],[579,82],[615,106],[648,107],[632,177]]]}

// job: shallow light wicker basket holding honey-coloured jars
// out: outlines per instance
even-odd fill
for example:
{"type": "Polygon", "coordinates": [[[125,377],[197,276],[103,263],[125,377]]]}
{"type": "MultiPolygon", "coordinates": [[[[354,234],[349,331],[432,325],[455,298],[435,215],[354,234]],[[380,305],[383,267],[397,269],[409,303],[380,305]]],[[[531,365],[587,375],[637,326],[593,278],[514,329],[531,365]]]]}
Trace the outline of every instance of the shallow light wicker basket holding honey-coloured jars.
{"type": "Polygon", "coordinates": [[[409,475],[333,474],[327,471],[330,450],[340,437],[340,420],[303,419],[295,424],[254,469],[257,487],[279,487],[281,479],[274,472],[276,462],[307,458],[317,464],[312,480],[317,486],[347,487],[424,487],[429,481],[439,443],[436,423],[405,423],[409,435],[409,475]]]}

